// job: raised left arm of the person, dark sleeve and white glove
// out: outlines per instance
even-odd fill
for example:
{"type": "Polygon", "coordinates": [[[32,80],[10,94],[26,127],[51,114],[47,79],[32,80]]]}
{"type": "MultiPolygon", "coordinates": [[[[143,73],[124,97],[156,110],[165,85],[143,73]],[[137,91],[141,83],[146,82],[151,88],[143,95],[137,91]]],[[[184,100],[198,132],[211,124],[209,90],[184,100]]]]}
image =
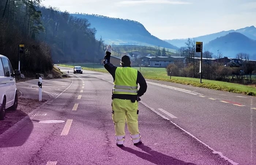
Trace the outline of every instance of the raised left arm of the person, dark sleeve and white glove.
{"type": "Polygon", "coordinates": [[[112,63],[110,63],[110,55],[111,55],[111,46],[108,45],[106,47],[106,54],[104,57],[104,67],[105,69],[112,75],[113,79],[115,79],[115,72],[116,72],[116,66],[114,66],[112,63]]]}

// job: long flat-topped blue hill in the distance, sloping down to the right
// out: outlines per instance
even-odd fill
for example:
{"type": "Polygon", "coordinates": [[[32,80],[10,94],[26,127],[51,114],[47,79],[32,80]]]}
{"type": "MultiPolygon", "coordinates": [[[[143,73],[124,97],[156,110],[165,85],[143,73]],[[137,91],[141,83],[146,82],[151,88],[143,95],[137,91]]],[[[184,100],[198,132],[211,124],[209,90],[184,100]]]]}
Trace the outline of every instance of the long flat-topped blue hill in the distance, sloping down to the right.
{"type": "Polygon", "coordinates": [[[101,38],[107,44],[127,44],[141,46],[160,46],[170,49],[178,49],[170,43],[167,43],[146,30],[146,28],[137,21],[110,18],[100,15],[71,14],[79,18],[86,18],[91,23],[91,27],[97,30],[96,38],[101,38]]]}

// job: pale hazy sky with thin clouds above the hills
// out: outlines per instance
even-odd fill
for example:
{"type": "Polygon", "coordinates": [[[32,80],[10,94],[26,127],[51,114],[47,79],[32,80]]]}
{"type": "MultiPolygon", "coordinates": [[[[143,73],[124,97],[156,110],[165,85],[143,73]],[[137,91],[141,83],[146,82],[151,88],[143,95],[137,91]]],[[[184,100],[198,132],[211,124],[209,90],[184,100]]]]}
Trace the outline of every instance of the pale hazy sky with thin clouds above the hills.
{"type": "Polygon", "coordinates": [[[135,20],[160,39],[256,26],[256,0],[42,0],[42,4],[69,13],[135,20]]]}

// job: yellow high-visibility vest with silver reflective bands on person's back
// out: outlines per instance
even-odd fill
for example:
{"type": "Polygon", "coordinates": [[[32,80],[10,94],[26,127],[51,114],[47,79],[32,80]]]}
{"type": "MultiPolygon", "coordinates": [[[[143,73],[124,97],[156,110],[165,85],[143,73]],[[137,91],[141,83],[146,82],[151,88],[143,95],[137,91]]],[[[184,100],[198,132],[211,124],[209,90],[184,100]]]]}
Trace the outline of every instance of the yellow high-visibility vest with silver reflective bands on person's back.
{"type": "Polygon", "coordinates": [[[113,94],[137,95],[138,85],[136,84],[138,70],[131,67],[117,67],[113,94]]]}

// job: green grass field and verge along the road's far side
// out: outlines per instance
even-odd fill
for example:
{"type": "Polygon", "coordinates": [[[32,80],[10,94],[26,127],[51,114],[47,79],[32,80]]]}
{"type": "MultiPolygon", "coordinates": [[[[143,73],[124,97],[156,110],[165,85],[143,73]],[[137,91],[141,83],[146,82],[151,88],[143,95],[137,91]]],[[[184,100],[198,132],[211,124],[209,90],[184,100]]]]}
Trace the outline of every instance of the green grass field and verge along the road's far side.
{"type": "MultiPolygon", "coordinates": [[[[75,64],[75,65],[77,66],[78,64],[75,64]]],[[[82,66],[84,70],[108,72],[105,70],[105,68],[101,64],[79,64],[79,65],[82,66]]],[[[65,65],[65,64],[61,64],[60,66],[71,67],[71,68],[74,67],[74,65],[65,65]]],[[[256,96],[256,86],[252,87],[252,86],[240,85],[236,83],[228,83],[228,82],[207,80],[207,79],[202,79],[202,83],[200,83],[200,79],[198,78],[176,77],[176,76],[171,76],[171,79],[170,79],[170,76],[167,76],[166,68],[151,68],[151,67],[133,67],[133,68],[139,70],[146,79],[161,80],[161,81],[191,85],[195,87],[203,87],[208,89],[256,96]]]]}

